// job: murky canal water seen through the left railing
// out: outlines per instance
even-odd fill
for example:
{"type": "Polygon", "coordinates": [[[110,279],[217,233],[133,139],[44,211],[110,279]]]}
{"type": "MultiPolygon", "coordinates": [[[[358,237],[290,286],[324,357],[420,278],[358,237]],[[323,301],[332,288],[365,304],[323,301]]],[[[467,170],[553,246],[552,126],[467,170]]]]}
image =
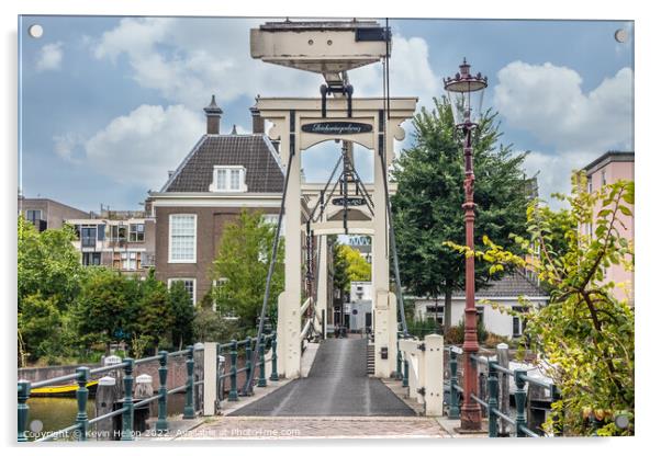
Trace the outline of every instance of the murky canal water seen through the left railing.
{"type": "MultiPolygon", "coordinates": [[[[168,396],[168,415],[181,414],[186,395],[168,396]]],[[[54,432],[70,426],[76,421],[78,404],[75,398],[31,398],[27,401],[30,412],[27,429],[33,432],[54,432]],[[37,421],[38,420],[38,421],[37,421]]],[[[156,402],[152,415],[156,415],[156,402]]],[[[90,419],[96,417],[94,398],[87,402],[87,413],[90,419]]]]}

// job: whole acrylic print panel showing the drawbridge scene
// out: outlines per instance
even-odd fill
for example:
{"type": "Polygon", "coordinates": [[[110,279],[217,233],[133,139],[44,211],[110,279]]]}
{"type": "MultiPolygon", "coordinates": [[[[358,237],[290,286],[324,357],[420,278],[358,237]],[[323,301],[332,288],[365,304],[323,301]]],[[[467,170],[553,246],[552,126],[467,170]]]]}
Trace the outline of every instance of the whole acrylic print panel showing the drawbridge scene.
{"type": "Polygon", "coordinates": [[[20,16],[19,441],[632,435],[634,32],[20,16]]]}

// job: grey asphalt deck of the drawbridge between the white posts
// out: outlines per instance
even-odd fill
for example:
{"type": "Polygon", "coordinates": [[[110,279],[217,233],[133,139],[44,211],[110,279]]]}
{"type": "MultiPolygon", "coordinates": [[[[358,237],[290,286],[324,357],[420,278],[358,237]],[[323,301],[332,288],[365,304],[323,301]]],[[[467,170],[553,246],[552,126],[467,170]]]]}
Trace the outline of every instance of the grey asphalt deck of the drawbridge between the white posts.
{"type": "Polygon", "coordinates": [[[322,342],[310,375],[249,403],[233,417],[413,417],[381,380],[367,375],[366,339],[322,342]]]}

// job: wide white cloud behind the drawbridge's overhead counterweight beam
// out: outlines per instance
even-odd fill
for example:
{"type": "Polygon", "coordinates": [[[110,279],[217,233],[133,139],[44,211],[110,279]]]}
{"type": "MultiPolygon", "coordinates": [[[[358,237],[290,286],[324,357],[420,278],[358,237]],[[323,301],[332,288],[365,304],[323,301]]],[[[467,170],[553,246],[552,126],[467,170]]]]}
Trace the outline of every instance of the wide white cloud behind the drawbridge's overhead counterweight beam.
{"type": "MultiPolygon", "coordinates": [[[[259,20],[123,19],[93,46],[97,58],[125,55],[133,78],[166,99],[199,110],[215,93],[220,102],[240,95],[318,96],[320,75],[265,64],[250,57],[249,30],[259,20]]],[[[382,93],[381,65],[352,70],[356,96],[382,93]]],[[[393,37],[391,95],[429,98],[438,92],[423,38],[393,37]]]]}

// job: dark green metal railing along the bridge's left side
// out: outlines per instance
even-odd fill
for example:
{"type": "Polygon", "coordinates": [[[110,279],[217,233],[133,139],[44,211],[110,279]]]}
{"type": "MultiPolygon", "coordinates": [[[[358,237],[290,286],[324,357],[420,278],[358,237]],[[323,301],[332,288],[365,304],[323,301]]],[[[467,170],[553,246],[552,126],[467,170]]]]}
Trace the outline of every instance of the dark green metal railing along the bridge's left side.
{"type": "MultiPolygon", "coordinates": [[[[269,379],[271,381],[278,380],[278,355],[276,354],[277,341],[276,334],[262,335],[259,343],[257,343],[257,338],[246,338],[242,341],[231,341],[228,343],[217,345],[217,354],[221,355],[223,350],[229,349],[231,355],[231,367],[228,373],[223,373],[217,376],[217,380],[224,380],[225,378],[229,378],[231,381],[231,390],[228,400],[236,401],[238,400],[237,394],[237,374],[242,372],[250,373],[253,368],[259,368],[259,378],[257,380],[258,387],[266,387],[266,366],[267,363],[271,363],[271,375],[269,379]],[[271,355],[269,357],[266,356],[266,346],[267,343],[270,342],[270,352],[271,355]],[[256,344],[256,350],[259,351],[259,361],[256,363],[256,366],[251,365],[251,353],[253,353],[253,344],[256,344]],[[246,354],[246,365],[242,368],[237,368],[237,353],[238,349],[244,347],[246,354]]],[[[75,380],[78,384],[78,389],[76,390],[76,399],[77,399],[77,414],[74,424],[67,426],[65,429],[60,429],[57,431],[53,431],[47,433],[41,438],[35,440],[35,442],[47,442],[54,440],[60,440],[65,437],[72,436],[78,441],[86,441],[88,437],[89,428],[103,421],[110,420],[114,417],[122,417],[122,429],[120,440],[122,441],[133,441],[134,440],[134,411],[136,408],[149,404],[152,402],[158,401],[158,418],[155,425],[156,434],[165,433],[168,430],[168,417],[167,417],[167,398],[170,395],[176,392],[183,391],[186,394],[184,406],[183,406],[183,415],[184,420],[190,420],[195,418],[195,404],[194,404],[194,388],[203,385],[203,379],[195,380],[194,371],[195,371],[195,361],[194,353],[198,351],[203,351],[203,345],[190,345],[184,350],[180,350],[177,352],[167,352],[160,351],[155,356],[144,357],[141,360],[133,360],[131,357],[126,357],[122,360],[119,364],[113,364],[110,366],[98,367],[90,369],[89,367],[81,366],[76,368],[75,374],[64,375],[59,377],[49,378],[43,381],[31,383],[29,380],[19,380],[18,381],[18,441],[19,442],[27,442],[30,438],[27,437],[27,419],[30,414],[30,395],[31,390],[34,388],[52,386],[52,385],[60,385],[64,381],[75,380]],[[168,380],[168,360],[177,356],[186,356],[186,371],[187,378],[183,385],[178,386],[176,388],[168,389],[167,380],[168,380]],[[138,402],[134,401],[133,386],[134,386],[134,377],[133,372],[135,366],[158,361],[158,380],[159,387],[158,392],[154,396],[143,399],[138,402]],[[92,375],[105,374],[113,371],[122,371],[123,384],[124,384],[124,398],[123,406],[113,410],[112,412],[104,413],[102,415],[90,419],[87,413],[87,403],[89,399],[89,389],[87,385],[92,375]]],[[[250,378],[249,375],[246,375],[246,381],[250,378]]]]}

